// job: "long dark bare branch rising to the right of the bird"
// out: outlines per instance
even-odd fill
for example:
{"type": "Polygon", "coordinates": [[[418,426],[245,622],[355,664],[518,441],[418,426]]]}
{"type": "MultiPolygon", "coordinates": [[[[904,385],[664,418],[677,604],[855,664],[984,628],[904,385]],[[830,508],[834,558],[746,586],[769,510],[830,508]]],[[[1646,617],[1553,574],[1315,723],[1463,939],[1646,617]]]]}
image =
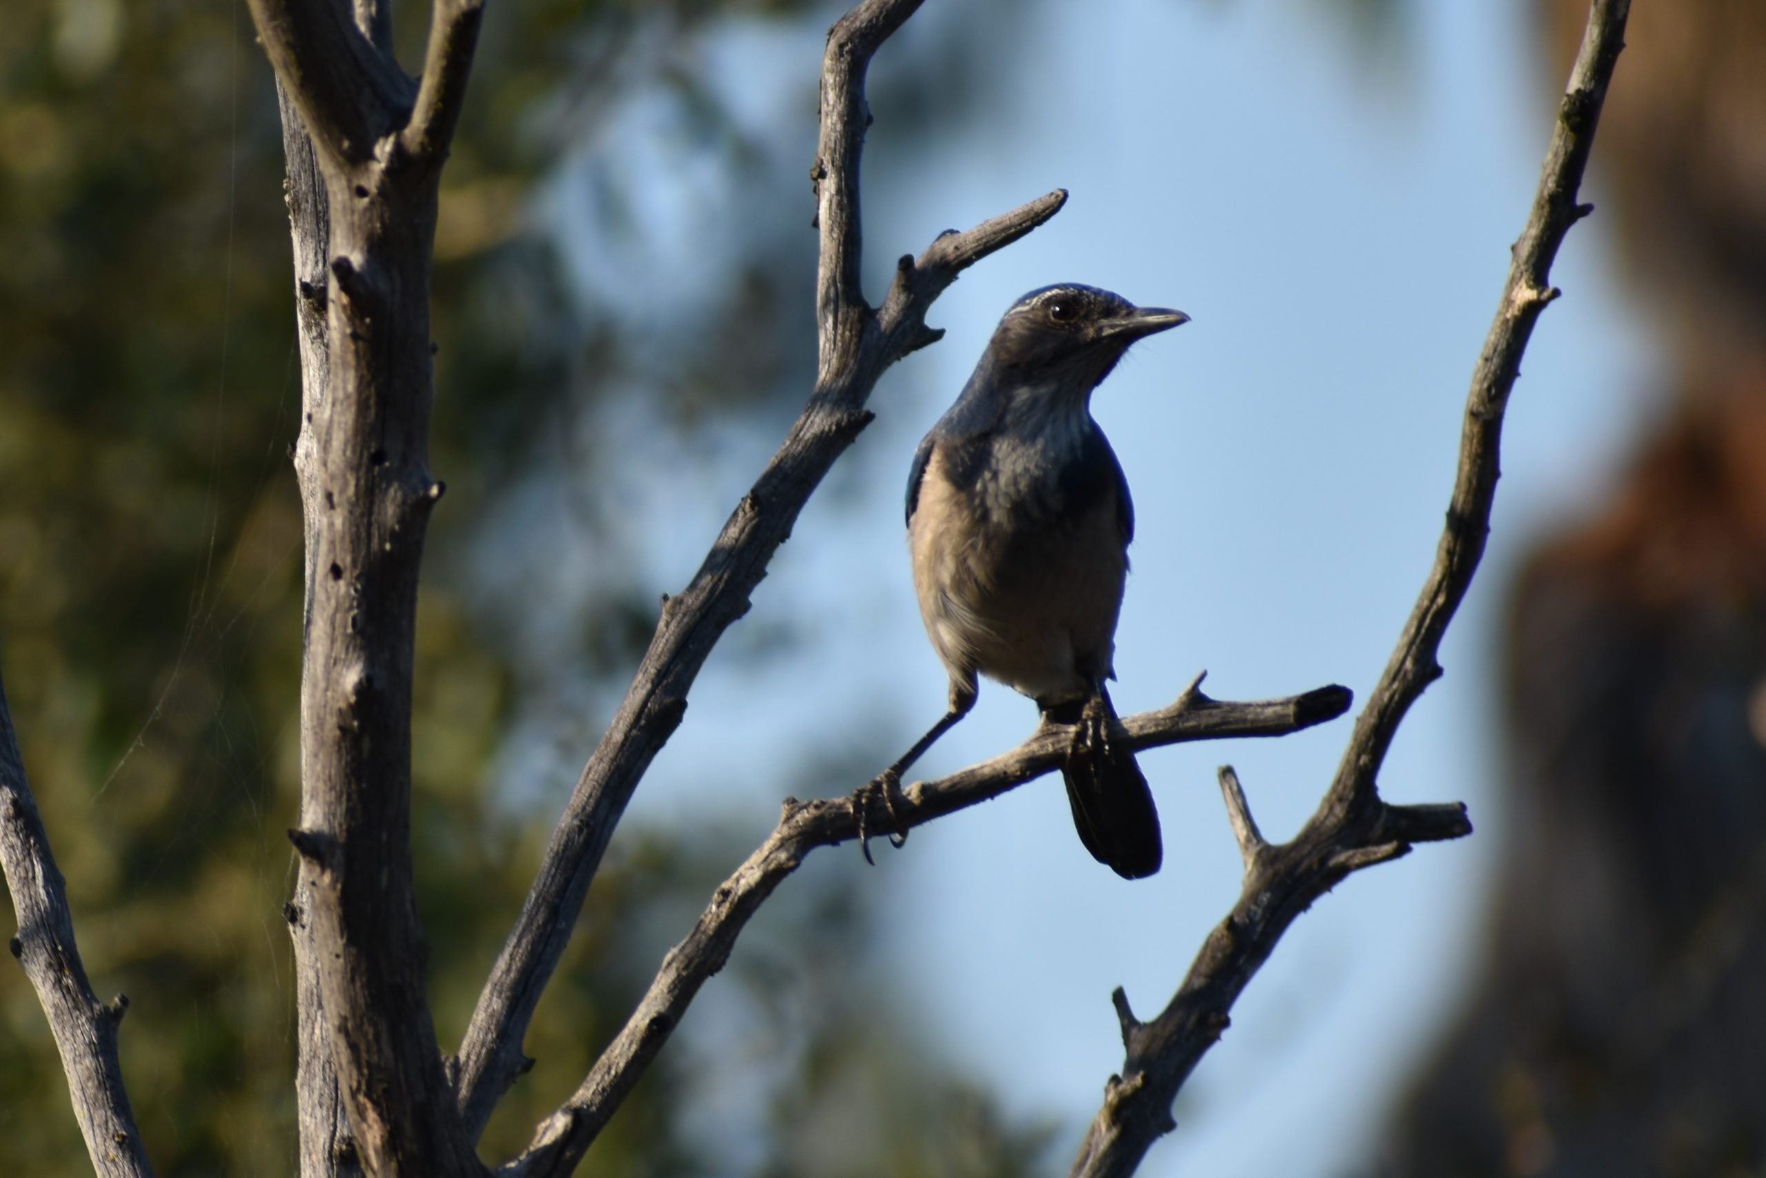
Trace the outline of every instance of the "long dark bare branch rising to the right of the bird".
{"type": "MultiPolygon", "coordinates": [[[[1125,1178],[1148,1146],[1174,1127],[1171,1104],[1190,1070],[1229,1023],[1234,1000],[1275,950],[1287,925],[1355,871],[1399,858],[1415,842],[1471,832],[1462,805],[1388,805],[1376,777],[1392,736],[1423,689],[1441,675],[1438,653],[1453,611],[1471,585],[1491,526],[1503,410],[1521,373],[1521,353],[1540,311],[1558,291],[1551,263],[1565,233],[1589,208],[1577,203],[1600,106],[1623,48],[1628,0],[1595,0],[1588,34],[1558,113],[1538,194],[1513,249],[1513,265],[1489,339],[1473,373],[1460,434],[1459,475],[1434,569],[1392,661],[1356,721],[1337,777],[1305,828],[1250,860],[1227,918],[1208,934],[1189,975],[1151,1023],[1123,1019],[1125,1065],[1106,1086],[1072,1178],[1125,1178]]],[[[1227,804],[1234,828],[1254,830],[1236,777],[1227,804]]],[[[1240,832],[1240,842],[1245,842],[1240,832]]]]}

